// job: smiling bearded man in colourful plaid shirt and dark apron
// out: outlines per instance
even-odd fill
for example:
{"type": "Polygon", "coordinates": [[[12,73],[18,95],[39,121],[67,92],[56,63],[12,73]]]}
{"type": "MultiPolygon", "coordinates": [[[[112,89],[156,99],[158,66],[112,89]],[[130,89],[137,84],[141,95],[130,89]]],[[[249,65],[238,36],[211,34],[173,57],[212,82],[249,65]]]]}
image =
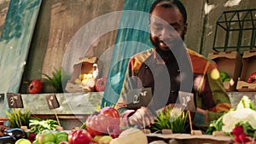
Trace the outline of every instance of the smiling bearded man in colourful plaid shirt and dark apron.
{"type": "Polygon", "coordinates": [[[191,76],[191,90],[186,89],[186,92],[195,95],[193,124],[207,127],[231,107],[216,63],[190,49],[182,50],[184,44],[180,40],[184,39],[188,28],[183,3],[178,0],[156,0],[150,14],[150,40],[154,49],[131,57],[123,89],[115,105],[123,117],[123,124],[137,125],[139,128],[154,124],[155,111],[176,103],[179,91],[184,87],[189,88],[187,79],[191,76]],[[183,65],[188,69],[181,69],[183,65]],[[190,72],[192,75],[189,75],[190,72]],[[152,89],[154,102],[148,106],[132,107],[130,100],[136,97],[132,97],[134,95],[129,91],[140,88],[152,89]]]}

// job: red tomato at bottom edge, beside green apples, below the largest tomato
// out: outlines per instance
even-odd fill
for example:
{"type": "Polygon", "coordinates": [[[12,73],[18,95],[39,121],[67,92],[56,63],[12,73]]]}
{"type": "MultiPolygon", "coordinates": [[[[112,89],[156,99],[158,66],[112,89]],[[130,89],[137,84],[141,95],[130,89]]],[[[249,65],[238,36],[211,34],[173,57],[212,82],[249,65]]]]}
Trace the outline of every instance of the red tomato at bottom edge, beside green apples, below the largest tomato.
{"type": "Polygon", "coordinates": [[[86,130],[72,130],[68,133],[69,144],[89,144],[91,139],[90,133],[86,130]]]}

